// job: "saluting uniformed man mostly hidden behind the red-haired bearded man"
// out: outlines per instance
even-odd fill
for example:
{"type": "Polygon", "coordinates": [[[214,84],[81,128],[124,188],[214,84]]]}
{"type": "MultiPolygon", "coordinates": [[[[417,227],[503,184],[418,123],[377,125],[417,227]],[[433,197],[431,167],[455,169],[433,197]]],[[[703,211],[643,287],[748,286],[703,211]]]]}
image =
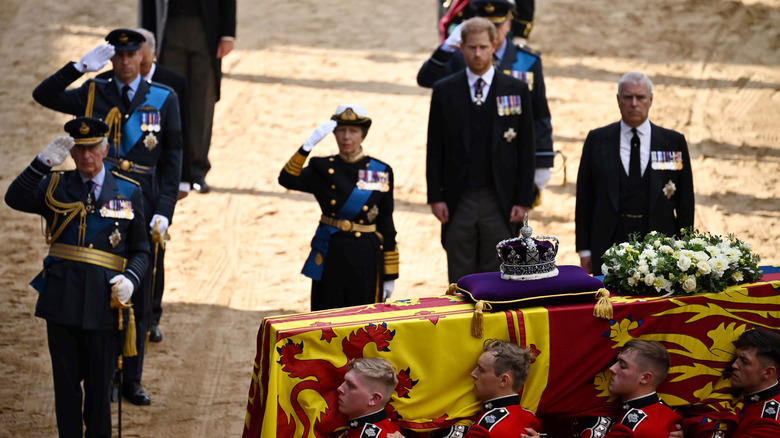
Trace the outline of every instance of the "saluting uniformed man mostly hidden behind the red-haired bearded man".
{"type": "MultiPolygon", "coordinates": [[[[526,3],[530,3],[530,19],[533,19],[533,1],[520,0],[517,8],[522,16],[529,18],[526,3]]],[[[515,45],[510,39],[513,16],[517,14],[515,5],[507,0],[471,0],[464,9],[464,16],[478,16],[490,20],[498,32],[499,45],[493,59],[496,69],[504,74],[523,80],[531,93],[531,108],[533,109],[534,135],[536,147],[536,172],[534,174],[535,194],[543,190],[552,176],[551,168],[555,152],[553,152],[552,122],[550,108],[547,105],[547,90],[544,85],[542,58],[539,52],[525,45],[515,45]]],[[[532,24],[527,24],[528,36],[532,24]]],[[[466,62],[463,53],[458,50],[461,41],[463,23],[458,25],[447,37],[444,43],[433,52],[417,73],[417,83],[422,87],[433,87],[433,84],[448,75],[463,71],[466,62]]]]}

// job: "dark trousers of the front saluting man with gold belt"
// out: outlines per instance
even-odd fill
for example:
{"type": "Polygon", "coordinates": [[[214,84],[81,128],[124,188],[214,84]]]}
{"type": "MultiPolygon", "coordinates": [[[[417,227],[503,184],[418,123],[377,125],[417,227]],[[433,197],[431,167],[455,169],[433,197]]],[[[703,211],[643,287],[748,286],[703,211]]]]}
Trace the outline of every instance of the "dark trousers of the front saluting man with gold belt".
{"type": "Polygon", "coordinates": [[[46,332],[60,438],[110,438],[109,389],[116,367],[117,331],[84,330],[46,321],[46,332]]]}

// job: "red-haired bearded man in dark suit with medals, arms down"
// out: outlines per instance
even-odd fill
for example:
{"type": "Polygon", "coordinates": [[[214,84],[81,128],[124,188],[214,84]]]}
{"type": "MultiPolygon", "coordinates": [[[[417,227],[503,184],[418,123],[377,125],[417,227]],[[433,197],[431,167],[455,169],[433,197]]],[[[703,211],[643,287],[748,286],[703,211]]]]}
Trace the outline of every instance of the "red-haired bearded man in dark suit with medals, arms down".
{"type": "Polygon", "coordinates": [[[442,223],[450,282],[498,271],[496,244],[531,208],[534,125],[528,86],[497,71],[498,35],[481,17],[461,29],[467,69],[433,86],[428,203],[442,223]]]}

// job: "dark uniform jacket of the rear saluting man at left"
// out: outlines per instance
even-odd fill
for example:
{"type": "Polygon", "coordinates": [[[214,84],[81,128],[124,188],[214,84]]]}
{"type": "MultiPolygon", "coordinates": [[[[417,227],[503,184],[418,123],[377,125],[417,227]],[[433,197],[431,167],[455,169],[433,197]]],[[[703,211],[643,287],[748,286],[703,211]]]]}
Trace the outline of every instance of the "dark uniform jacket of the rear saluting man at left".
{"type": "MultiPolygon", "coordinates": [[[[105,119],[113,107],[123,108],[122,97],[113,80],[90,79],[79,88],[66,89],[68,85],[82,76],[72,63],[66,64],[57,73],[49,76],[33,91],[33,98],[41,105],[74,116],[82,116],[87,107],[89,87],[95,83],[95,102],[92,108],[92,116],[105,119]]],[[[167,93],[165,100],[157,110],[160,113],[160,132],[155,132],[157,145],[149,150],[144,140],[151,133],[144,133],[130,152],[122,158],[142,166],[155,168],[155,175],[141,175],[138,173],[126,173],[126,175],[141,183],[141,188],[146,202],[145,211],[151,218],[160,214],[173,223],[173,211],[176,207],[176,199],[179,195],[179,181],[181,181],[182,160],[182,135],[181,120],[179,118],[179,100],[170,88],[161,84],[149,84],[141,81],[138,90],[130,103],[131,114],[146,100],[147,94],[155,88],[157,91],[167,93]]],[[[130,128],[126,126],[128,119],[122,118],[122,131],[130,128]]],[[[124,136],[125,134],[123,134],[124,136]]],[[[114,156],[113,132],[109,137],[112,143],[109,149],[109,157],[114,156]]],[[[124,172],[123,172],[124,173],[124,172]]]]}

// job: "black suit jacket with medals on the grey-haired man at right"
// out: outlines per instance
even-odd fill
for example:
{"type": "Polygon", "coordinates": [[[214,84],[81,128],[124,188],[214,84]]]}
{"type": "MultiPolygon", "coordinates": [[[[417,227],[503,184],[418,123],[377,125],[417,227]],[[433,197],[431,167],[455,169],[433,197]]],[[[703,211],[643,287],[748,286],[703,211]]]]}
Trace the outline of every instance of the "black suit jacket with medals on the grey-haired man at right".
{"type": "MultiPolygon", "coordinates": [[[[652,158],[645,174],[648,179],[648,219],[650,229],[675,235],[681,228],[693,226],[694,196],[691,159],[685,137],[675,131],[650,124],[651,151],[682,152],[681,170],[656,170],[652,158]],[[664,195],[664,186],[671,181],[676,190],[664,195]]],[[[577,174],[575,211],[577,251],[592,252],[594,272],[601,270],[601,256],[614,243],[620,219],[620,122],[594,129],[588,133],[582,148],[577,174]]]]}

